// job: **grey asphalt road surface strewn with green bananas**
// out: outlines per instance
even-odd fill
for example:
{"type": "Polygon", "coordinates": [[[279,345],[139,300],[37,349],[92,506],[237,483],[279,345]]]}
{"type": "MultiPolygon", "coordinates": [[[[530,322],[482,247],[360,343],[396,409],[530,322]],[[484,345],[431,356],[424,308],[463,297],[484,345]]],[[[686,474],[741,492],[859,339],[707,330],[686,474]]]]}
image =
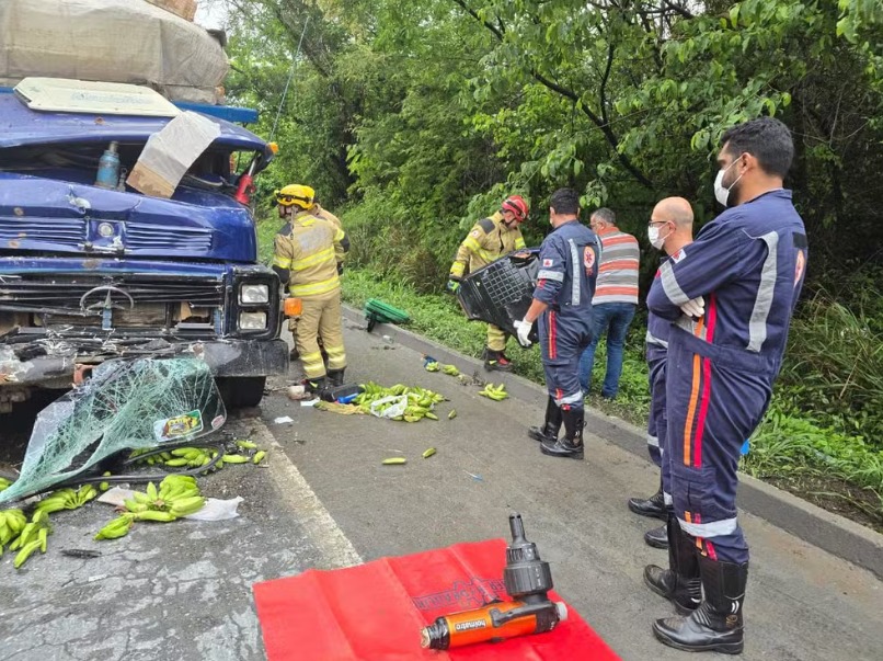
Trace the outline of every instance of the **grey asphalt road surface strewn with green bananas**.
{"type": "MultiPolygon", "coordinates": [[[[552,563],[557,590],[623,660],[695,658],[650,631],[673,611],[642,583],[646,563],[666,561],[641,539],[655,522],[626,508],[629,495],[655,489],[647,461],[592,430],[585,461],[544,457],[525,435],[543,402],[486,400],[475,386],[425,372],[417,352],[347,327],[348,377],[438,390],[450,399],[442,420],[322,412],[289,401],[277,380],[257,418],[222,431],[271,448],[267,467],[231,466],[203,480],[208,495],[244,498],[239,518],[144,524],[95,543],[110,506],[56,515],[46,556],[18,572],[11,554],[0,559],[0,657],[263,659],[254,582],[504,537],[517,510],[552,563]],[[283,415],[293,422],[274,422],[283,415]],[[429,446],[438,453],[421,458],[429,446]],[[380,464],[400,455],[405,466],[380,464]],[[103,555],[76,560],[60,555],[65,548],[103,555]]],[[[5,444],[24,433],[12,429],[2,426],[5,444]]],[[[879,661],[881,581],[758,517],[742,518],[753,549],[742,658],[879,661]]]]}

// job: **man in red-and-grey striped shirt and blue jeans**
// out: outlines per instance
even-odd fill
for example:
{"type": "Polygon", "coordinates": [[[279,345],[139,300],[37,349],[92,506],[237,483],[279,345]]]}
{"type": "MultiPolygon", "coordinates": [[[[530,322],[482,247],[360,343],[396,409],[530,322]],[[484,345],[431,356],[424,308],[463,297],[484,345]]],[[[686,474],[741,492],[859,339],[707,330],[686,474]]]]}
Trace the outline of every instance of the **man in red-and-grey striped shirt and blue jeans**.
{"type": "Polygon", "coordinates": [[[600,337],[607,333],[607,373],[601,397],[613,399],[619,391],[619,377],[622,375],[626,335],[638,309],[638,265],[641,251],[638,239],[616,226],[616,215],[610,209],[596,210],[589,218],[589,225],[601,240],[601,261],[595,297],[592,299],[595,332],[592,344],[580,360],[580,385],[584,392],[589,391],[595,349],[600,337]]]}

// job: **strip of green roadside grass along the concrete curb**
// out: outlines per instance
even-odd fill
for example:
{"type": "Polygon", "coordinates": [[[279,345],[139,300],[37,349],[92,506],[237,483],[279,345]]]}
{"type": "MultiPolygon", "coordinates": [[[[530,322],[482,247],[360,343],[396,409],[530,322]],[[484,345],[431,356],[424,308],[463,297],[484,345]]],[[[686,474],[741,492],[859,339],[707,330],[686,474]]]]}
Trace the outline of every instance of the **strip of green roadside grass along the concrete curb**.
{"type": "MultiPolygon", "coordinates": [[[[268,218],[257,226],[262,263],[268,263],[272,259],[273,237],[277,230],[278,223],[275,218],[268,218]]],[[[369,298],[379,298],[402,308],[412,319],[409,329],[466,355],[481,356],[485,327],[480,322],[467,321],[451,296],[421,294],[408,282],[393,282],[369,269],[346,270],[343,296],[348,304],[356,307],[364,306],[369,298]]],[[[823,306],[816,314],[834,314],[837,316],[835,321],[841,322],[844,310],[835,308],[832,311],[829,307],[823,306]]],[[[868,424],[868,417],[880,413],[876,410],[879,407],[870,406],[873,399],[872,381],[880,373],[870,368],[868,363],[880,360],[883,355],[880,346],[883,344],[874,344],[875,338],[869,339],[867,330],[856,331],[855,319],[846,321],[850,322],[846,324],[846,332],[853,329],[850,345],[858,346],[857,339],[863,342],[861,364],[855,358],[852,364],[857,366],[856,375],[867,375],[865,381],[856,383],[857,377],[853,376],[852,381],[841,385],[840,389],[830,394],[823,379],[814,378],[814,373],[807,372],[807,356],[815,356],[814,360],[821,361],[824,352],[830,353],[835,335],[839,338],[842,334],[844,324],[814,323],[811,316],[795,320],[792,338],[799,345],[790,347],[790,362],[777,384],[764,422],[752,436],[752,451],[743,457],[741,469],[883,532],[883,440],[873,435],[860,435],[862,428],[878,429],[874,424],[868,424]],[[815,392],[823,387],[825,391],[818,396],[819,406],[816,409],[815,392]],[[848,415],[844,413],[832,414],[834,395],[844,396],[849,387],[862,387],[862,394],[870,394],[869,406],[861,414],[861,422],[864,424],[857,425],[855,420],[848,421],[848,415]]],[[[589,395],[586,400],[593,408],[639,426],[646,424],[650,403],[647,369],[643,355],[644,332],[645,318],[635,318],[626,345],[617,399],[608,401],[597,395],[589,395]]],[[[848,351],[848,347],[844,350],[846,354],[848,351]]],[[[512,340],[507,354],[516,374],[543,384],[538,347],[524,350],[512,340]]],[[[846,357],[842,360],[847,361],[846,357]]],[[[601,341],[595,355],[593,384],[601,383],[605,366],[606,347],[601,341]]],[[[849,408],[841,404],[837,410],[849,411],[849,408]]]]}

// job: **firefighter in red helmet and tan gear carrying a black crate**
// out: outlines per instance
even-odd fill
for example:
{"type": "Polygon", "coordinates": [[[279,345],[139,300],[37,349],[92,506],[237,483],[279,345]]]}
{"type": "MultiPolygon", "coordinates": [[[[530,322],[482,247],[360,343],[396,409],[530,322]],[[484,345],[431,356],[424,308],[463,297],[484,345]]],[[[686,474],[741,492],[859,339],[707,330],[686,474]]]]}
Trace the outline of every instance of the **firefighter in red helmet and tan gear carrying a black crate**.
{"type": "MultiPolygon", "coordinates": [[[[527,203],[520,195],[511,195],[503,201],[500,210],[479,220],[460,243],[457,257],[450,266],[447,290],[456,294],[467,273],[478,271],[513,250],[525,248],[520,225],[527,219],[527,203]]],[[[511,372],[512,363],[506,357],[508,335],[503,329],[488,324],[488,345],[484,349],[484,368],[511,372]]]]}

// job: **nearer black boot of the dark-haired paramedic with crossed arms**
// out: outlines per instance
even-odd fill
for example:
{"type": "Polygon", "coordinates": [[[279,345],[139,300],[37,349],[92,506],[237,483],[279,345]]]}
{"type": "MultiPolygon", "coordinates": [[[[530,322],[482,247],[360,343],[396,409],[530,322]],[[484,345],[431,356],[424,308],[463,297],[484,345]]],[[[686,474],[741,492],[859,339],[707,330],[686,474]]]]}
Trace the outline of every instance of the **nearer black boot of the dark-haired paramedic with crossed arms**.
{"type": "Polygon", "coordinates": [[[748,563],[722,562],[699,558],[706,599],[687,617],[668,617],[653,624],[662,642],[688,652],[714,651],[741,654],[743,639],[742,605],[748,583],[748,563]]]}

